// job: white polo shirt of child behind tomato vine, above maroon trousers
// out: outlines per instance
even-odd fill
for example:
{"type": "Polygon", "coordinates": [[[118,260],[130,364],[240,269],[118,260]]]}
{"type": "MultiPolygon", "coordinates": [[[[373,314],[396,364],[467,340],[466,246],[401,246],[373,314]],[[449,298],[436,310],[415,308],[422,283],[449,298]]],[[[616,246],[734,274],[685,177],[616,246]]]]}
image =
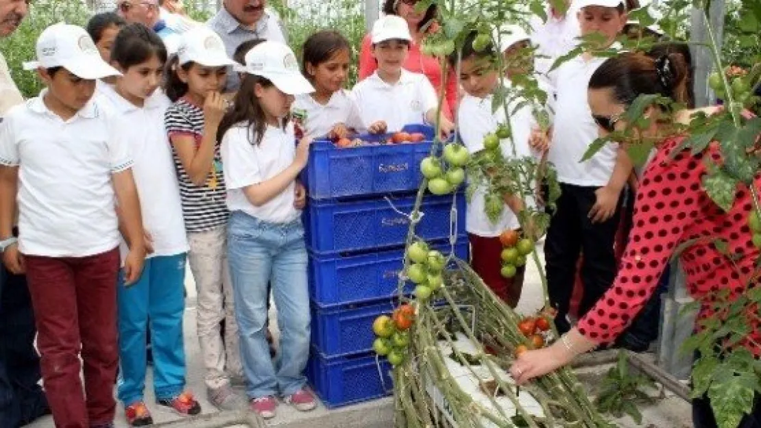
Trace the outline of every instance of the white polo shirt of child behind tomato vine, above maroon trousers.
{"type": "MultiPolygon", "coordinates": [[[[513,112],[519,104],[519,100],[514,100],[508,106],[509,111],[513,112]]],[[[460,106],[457,108],[457,116],[460,123],[460,138],[463,144],[471,154],[483,150],[483,138],[490,132],[495,132],[499,125],[505,123],[505,110],[498,109],[492,113],[492,96],[478,98],[465,95],[460,100],[460,106]]],[[[531,128],[535,124],[531,109],[524,105],[510,116],[510,125],[514,137],[515,152],[517,157],[527,157],[540,155],[532,151],[529,147],[528,140],[531,135],[531,128]]],[[[511,139],[501,141],[500,150],[505,159],[514,158],[511,139]]],[[[476,188],[473,197],[467,205],[465,228],[468,233],[477,236],[493,237],[505,229],[518,229],[521,224],[518,222],[517,215],[505,205],[501,217],[496,223],[492,223],[484,212],[484,199],[486,192],[482,188],[476,188]]],[[[529,201],[529,203],[532,203],[529,201]]]]}

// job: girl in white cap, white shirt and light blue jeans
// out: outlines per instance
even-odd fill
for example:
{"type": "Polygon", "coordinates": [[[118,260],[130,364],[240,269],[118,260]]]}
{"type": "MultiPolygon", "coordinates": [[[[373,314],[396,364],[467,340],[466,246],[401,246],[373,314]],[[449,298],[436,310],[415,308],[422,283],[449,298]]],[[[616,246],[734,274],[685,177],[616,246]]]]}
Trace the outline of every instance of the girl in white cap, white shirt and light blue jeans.
{"type": "Polygon", "coordinates": [[[246,55],[247,75],[219,125],[228,186],[228,257],[235,290],[247,395],[261,417],[275,417],[275,394],[300,411],[314,409],[302,372],[310,342],[307,250],[295,179],[307,164],[311,138],[294,144],[288,116],[295,95],[314,88],[282,43],[264,42],[246,55]],[[278,308],[280,358],[265,340],[267,284],[278,308]]]}

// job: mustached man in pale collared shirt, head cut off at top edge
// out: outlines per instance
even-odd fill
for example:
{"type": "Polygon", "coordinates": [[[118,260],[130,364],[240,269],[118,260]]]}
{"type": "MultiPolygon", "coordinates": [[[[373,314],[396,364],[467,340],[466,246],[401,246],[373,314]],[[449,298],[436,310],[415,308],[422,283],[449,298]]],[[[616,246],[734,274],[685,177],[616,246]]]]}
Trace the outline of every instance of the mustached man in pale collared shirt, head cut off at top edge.
{"type": "MultiPolygon", "coordinates": [[[[224,0],[222,8],[209,20],[207,24],[222,38],[231,58],[246,40],[288,42],[280,17],[266,6],[266,0],[224,0]]],[[[239,85],[237,73],[228,73],[225,91],[235,91],[239,85]]]]}

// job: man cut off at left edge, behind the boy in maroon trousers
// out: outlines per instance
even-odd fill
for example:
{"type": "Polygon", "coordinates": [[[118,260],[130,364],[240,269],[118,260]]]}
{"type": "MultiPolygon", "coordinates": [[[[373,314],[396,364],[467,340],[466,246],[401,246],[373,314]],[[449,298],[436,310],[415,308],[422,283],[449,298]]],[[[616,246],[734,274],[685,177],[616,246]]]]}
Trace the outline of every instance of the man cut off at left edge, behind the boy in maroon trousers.
{"type": "MultiPolygon", "coordinates": [[[[18,28],[28,0],[0,0],[0,37],[18,28]]],[[[0,53],[0,121],[24,98],[0,53]]],[[[0,249],[13,245],[0,242],[0,249]]],[[[40,382],[40,357],[34,349],[34,315],[26,277],[0,267],[0,426],[15,428],[49,413],[40,382]]]]}

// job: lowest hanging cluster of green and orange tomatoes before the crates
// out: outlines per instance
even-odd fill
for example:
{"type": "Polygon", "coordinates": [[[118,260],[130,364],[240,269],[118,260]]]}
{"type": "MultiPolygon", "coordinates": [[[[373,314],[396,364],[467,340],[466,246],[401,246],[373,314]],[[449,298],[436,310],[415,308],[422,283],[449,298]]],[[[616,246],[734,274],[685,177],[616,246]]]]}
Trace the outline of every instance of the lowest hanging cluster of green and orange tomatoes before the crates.
{"type": "Polygon", "coordinates": [[[373,331],[377,338],[373,342],[375,353],[387,356],[392,366],[404,362],[409,347],[409,328],[415,322],[415,308],[404,303],[394,309],[393,314],[380,315],[373,322],[373,331]]]}

